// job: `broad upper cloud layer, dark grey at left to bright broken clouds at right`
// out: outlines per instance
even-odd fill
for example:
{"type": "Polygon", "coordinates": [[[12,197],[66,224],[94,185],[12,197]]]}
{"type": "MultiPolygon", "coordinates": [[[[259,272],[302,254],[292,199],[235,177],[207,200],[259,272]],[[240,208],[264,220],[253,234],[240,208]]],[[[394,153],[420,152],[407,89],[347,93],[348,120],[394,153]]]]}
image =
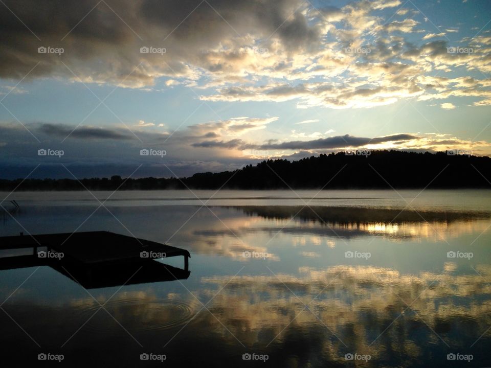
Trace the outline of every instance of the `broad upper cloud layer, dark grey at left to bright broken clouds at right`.
{"type": "Polygon", "coordinates": [[[196,87],[204,101],[297,100],[299,108],[341,109],[431,95],[421,79],[435,70],[491,73],[489,37],[462,40],[462,47],[474,46],[472,55],[449,54],[444,40],[424,43],[444,32],[409,41],[422,31],[418,12],[401,8],[387,24],[380,15],[399,7],[398,0],[319,9],[301,0],[121,0],[110,4],[114,12],[104,2],[92,11],[94,5],[83,2],[5,4],[42,41],[10,12],[0,14],[3,78],[21,79],[31,71],[27,79],[145,89],[162,78],[164,89],[196,87]],[[40,46],[64,53],[38,54],[40,46]],[[166,52],[141,53],[141,47],[166,52]]]}

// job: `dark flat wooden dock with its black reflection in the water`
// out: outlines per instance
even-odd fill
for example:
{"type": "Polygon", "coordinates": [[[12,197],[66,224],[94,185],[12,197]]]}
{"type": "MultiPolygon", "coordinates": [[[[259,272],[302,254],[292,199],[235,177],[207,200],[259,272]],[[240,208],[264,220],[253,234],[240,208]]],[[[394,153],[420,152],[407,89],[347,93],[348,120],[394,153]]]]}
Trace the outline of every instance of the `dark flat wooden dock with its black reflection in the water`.
{"type": "Polygon", "coordinates": [[[50,266],[85,288],[187,279],[186,249],[110,232],[0,237],[0,270],[50,266]],[[184,256],[184,269],[154,259],[184,256]]]}

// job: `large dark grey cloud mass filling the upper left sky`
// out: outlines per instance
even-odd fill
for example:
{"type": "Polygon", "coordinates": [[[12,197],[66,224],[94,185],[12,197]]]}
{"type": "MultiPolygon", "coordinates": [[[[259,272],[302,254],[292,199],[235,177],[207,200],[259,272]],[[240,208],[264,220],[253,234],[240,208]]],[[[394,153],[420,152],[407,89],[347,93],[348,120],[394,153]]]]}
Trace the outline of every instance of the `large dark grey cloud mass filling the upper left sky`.
{"type": "Polygon", "coordinates": [[[82,80],[117,83],[124,79],[127,86],[144,86],[162,75],[186,75],[189,65],[220,71],[224,65],[210,61],[203,52],[234,37],[271,36],[269,41],[279,39],[286,50],[292,51],[307,50],[321,40],[319,26],[308,24],[301,12],[306,6],[299,7],[300,0],[4,3],[0,12],[2,78],[22,78],[40,62],[29,78],[74,78],[72,70],[82,80]],[[166,48],[167,53],[142,55],[140,47],[144,45],[166,48]],[[64,53],[38,54],[40,46],[63,48],[64,53]],[[143,65],[133,70],[141,61],[143,65]]]}

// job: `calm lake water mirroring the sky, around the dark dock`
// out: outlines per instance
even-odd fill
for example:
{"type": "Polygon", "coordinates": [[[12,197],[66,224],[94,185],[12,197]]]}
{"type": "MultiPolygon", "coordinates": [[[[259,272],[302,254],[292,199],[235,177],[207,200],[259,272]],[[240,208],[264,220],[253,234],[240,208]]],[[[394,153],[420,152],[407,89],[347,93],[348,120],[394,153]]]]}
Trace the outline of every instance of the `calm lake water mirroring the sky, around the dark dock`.
{"type": "Polygon", "coordinates": [[[11,195],[2,236],[133,235],[188,249],[191,273],[85,290],[1,270],[3,366],[491,365],[491,192],[194,194],[11,195]]]}

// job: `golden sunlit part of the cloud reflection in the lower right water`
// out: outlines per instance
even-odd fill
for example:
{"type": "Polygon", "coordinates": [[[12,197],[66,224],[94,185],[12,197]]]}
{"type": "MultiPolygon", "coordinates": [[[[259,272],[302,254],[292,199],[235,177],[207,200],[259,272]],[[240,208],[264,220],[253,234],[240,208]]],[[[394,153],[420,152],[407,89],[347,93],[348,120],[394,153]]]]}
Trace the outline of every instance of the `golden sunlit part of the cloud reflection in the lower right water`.
{"type": "MultiPolygon", "coordinates": [[[[474,323],[491,322],[491,267],[480,265],[474,274],[460,275],[453,273],[455,268],[455,264],[448,263],[439,274],[404,275],[371,266],[301,267],[298,276],[275,272],[238,276],[232,281],[221,276],[205,277],[202,281],[227,283],[228,287],[216,297],[214,308],[226,319],[242,321],[243,325],[235,330],[238,335],[248,329],[256,331],[257,340],[250,343],[269,343],[261,330],[273,329],[281,335],[292,316],[303,311],[296,318],[297,324],[315,322],[319,317],[333,332],[339,332],[341,339],[343,325],[358,324],[363,333],[356,335],[365,338],[356,343],[367,347],[373,342],[369,336],[385,328],[384,320],[390,320],[391,315],[396,317],[408,305],[435,331],[442,331],[439,324],[457,317],[474,323]],[[369,325],[360,324],[360,319],[368,315],[375,319],[369,325]]],[[[403,317],[406,323],[413,318],[403,317]]],[[[451,332],[449,326],[443,333],[451,337],[451,332]]],[[[352,338],[346,336],[348,340],[352,338]]]]}

